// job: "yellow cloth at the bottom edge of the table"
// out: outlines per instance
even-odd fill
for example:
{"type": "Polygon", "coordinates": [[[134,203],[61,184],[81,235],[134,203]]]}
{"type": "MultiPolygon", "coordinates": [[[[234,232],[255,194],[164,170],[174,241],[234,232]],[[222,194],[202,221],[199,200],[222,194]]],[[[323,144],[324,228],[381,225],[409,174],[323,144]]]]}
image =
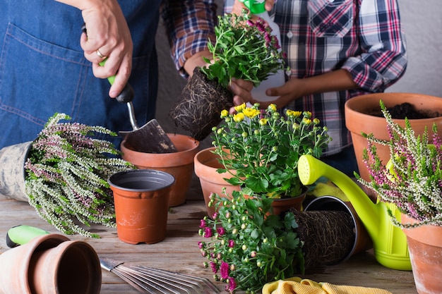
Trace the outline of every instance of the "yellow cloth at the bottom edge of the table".
{"type": "Polygon", "coordinates": [[[379,288],[360,286],[338,286],[330,283],[317,283],[297,276],[271,283],[263,287],[263,294],[391,294],[379,288]]]}

